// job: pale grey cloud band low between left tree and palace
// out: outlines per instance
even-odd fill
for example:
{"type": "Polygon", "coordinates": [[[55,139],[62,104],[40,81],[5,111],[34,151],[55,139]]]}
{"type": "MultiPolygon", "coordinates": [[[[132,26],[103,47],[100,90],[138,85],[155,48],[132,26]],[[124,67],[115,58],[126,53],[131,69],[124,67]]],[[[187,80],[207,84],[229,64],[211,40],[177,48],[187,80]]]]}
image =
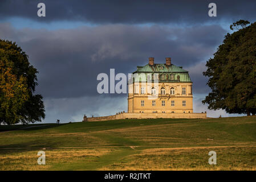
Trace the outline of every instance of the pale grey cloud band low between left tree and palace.
{"type": "Polygon", "coordinates": [[[56,122],[56,119],[62,123],[80,122],[84,114],[98,117],[127,111],[126,97],[46,98],[44,105],[47,113],[45,122],[56,122]]]}

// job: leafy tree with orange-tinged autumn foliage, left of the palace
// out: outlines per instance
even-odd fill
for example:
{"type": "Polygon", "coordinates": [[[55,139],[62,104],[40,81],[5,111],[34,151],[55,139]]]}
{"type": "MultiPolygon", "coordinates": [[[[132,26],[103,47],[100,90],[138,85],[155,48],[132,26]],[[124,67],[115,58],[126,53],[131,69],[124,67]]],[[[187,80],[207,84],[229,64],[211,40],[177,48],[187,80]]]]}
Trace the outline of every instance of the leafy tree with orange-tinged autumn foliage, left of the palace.
{"type": "Polygon", "coordinates": [[[44,119],[36,69],[16,43],[0,39],[0,123],[34,123],[44,119]]]}

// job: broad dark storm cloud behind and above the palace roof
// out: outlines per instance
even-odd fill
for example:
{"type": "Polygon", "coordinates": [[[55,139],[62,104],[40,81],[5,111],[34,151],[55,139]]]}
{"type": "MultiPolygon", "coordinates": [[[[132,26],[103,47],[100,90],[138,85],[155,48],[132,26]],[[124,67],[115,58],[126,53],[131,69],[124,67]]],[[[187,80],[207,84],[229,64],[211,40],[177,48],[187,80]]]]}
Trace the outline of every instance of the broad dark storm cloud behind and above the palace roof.
{"type": "MultiPolygon", "coordinates": [[[[17,30],[8,23],[0,24],[0,38],[17,42],[38,69],[37,91],[46,98],[97,96],[99,73],[109,75],[110,68],[116,73],[132,73],[137,65],[148,64],[151,56],[156,63],[165,63],[165,57],[170,56],[173,64],[193,68],[206,61],[205,57],[209,59],[224,35],[225,30],[217,25],[172,28],[114,24],[49,31],[17,30]]],[[[202,69],[201,65],[192,69],[192,81],[199,85],[202,69]]],[[[200,85],[196,92],[205,87],[200,85]]]]}

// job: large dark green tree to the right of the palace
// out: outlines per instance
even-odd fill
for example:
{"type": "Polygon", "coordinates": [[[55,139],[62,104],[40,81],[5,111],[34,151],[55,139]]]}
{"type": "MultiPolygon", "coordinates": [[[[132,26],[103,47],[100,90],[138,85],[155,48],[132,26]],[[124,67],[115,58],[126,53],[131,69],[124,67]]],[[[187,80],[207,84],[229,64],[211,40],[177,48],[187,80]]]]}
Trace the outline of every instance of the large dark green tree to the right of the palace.
{"type": "Polygon", "coordinates": [[[239,27],[225,35],[214,57],[210,58],[203,74],[212,92],[203,104],[208,109],[225,109],[227,113],[256,113],[256,22],[239,20],[230,26],[239,27]]]}

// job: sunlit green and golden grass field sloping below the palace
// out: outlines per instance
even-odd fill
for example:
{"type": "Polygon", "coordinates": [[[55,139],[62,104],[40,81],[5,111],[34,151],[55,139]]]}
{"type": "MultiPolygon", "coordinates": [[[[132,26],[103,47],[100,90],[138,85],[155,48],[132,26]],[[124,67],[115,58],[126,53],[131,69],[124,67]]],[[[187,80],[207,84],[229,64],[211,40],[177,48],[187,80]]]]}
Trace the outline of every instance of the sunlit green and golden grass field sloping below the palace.
{"type": "Polygon", "coordinates": [[[256,170],[256,117],[0,126],[0,137],[0,170],[256,170]]]}

